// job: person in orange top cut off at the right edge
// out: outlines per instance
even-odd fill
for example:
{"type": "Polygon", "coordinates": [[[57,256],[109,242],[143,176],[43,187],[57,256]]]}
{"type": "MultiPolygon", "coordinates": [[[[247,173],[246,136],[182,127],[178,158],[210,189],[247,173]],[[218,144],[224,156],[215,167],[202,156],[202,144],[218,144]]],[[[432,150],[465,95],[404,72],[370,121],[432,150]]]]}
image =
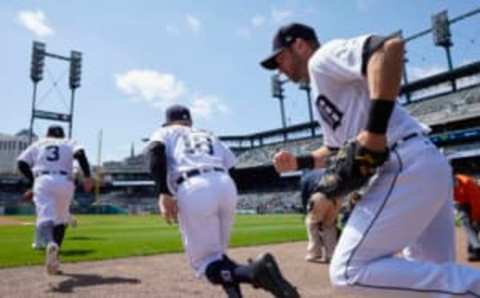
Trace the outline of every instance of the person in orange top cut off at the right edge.
{"type": "Polygon", "coordinates": [[[455,175],[455,207],[468,239],[468,260],[480,261],[480,186],[475,178],[455,175]]]}

